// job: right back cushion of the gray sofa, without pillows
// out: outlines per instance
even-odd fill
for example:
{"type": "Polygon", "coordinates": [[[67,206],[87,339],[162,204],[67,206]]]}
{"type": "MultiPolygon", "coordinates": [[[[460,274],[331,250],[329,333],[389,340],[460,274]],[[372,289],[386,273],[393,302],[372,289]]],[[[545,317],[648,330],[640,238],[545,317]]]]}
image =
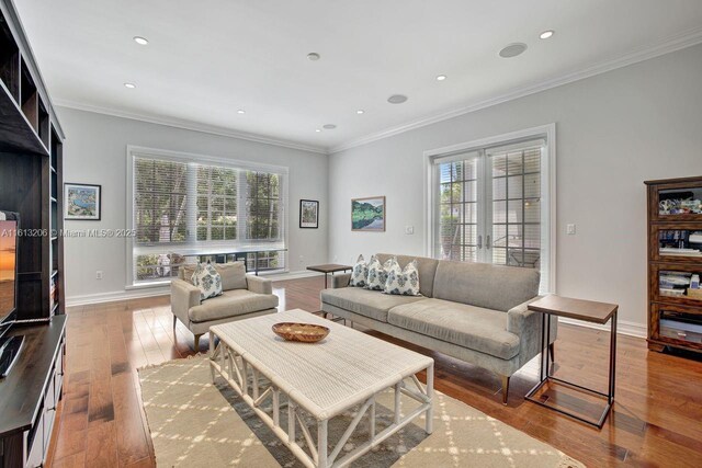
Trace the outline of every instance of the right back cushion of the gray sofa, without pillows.
{"type": "Polygon", "coordinates": [[[539,295],[539,277],[532,269],[442,260],[433,297],[507,312],[539,295]]]}

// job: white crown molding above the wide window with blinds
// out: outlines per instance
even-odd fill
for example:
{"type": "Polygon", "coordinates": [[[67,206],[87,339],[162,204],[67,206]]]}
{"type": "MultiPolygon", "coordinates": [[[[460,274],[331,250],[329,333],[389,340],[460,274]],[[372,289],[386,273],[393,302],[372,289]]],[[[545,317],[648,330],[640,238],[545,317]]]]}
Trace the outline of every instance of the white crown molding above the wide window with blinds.
{"type": "Polygon", "coordinates": [[[201,132],[204,134],[218,135],[218,136],[229,137],[229,138],[238,138],[247,141],[261,142],[264,145],[274,145],[274,146],[281,146],[284,148],[298,149],[302,151],[310,151],[310,152],[317,152],[320,155],[328,155],[327,148],[320,147],[320,146],[304,145],[304,144],[290,141],[285,139],[279,139],[273,137],[267,137],[263,135],[250,134],[246,132],[238,132],[229,128],[218,127],[216,125],[200,124],[196,122],[185,121],[182,118],[139,114],[139,113],[127,112],[127,111],[122,111],[116,109],[101,107],[98,105],[86,104],[81,102],[63,100],[63,99],[54,100],[54,104],[59,107],[68,107],[68,109],[75,109],[78,111],[94,112],[97,114],[111,115],[113,117],[131,118],[133,121],[148,122],[149,124],[166,125],[169,127],[182,128],[185,130],[201,132]]]}

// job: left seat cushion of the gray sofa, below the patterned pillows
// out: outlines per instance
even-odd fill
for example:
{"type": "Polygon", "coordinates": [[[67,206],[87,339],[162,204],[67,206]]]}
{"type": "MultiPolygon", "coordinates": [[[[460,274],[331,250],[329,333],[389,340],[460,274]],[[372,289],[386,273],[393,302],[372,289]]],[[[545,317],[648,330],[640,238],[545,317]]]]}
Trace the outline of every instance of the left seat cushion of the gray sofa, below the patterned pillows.
{"type": "Polygon", "coordinates": [[[387,322],[387,311],[393,307],[421,299],[421,297],[412,296],[389,296],[380,290],[361,289],[359,287],[342,287],[321,292],[322,303],[382,322],[387,322]]]}

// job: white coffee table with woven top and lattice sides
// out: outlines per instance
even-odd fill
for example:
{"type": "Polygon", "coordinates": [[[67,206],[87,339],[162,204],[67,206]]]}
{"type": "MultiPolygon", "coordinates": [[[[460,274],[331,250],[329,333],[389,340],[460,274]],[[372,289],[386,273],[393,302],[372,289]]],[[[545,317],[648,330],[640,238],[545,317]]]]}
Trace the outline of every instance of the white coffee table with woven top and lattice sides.
{"type": "Polygon", "coordinates": [[[224,377],[256,414],[307,467],[342,467],[426,413],[426,430],[432,432],[434,361],[414,351],[361,333],[342,324],[295,309],[286,312],[214,326],[210,329],[210,364],[224,377]],[[319,343],[286,342],[271,327],[279,322],[318,323],[331,329],[319,343]],[[213,335],[219,339],[214,347],[213,335]],[[423,386],[417,374],[427,370],[423,386]],[[261,381],[261,377],[265,379],[261,381]],[[408,383],[405,383],[408,379],[408,383]],[[376,433],[375,398],[394,388],[394,421],[376,433]],[[285,396],[281,401],[281,393],[285,396]],[[418,401],[401,414],[400,396],[418,401]],[[272,410],[262,403],[271,401],[272,410]],[[280,424],[282,407],[287,407],[287,427],[280,424]],[[328,441],[329,420],[360,406],[349,427],[338,441],[328,441]],[[301,412],[316,420],[313,440],[301,412]],[[342,458],[341,449],[369,414],[370,437],[342,458]],[[305,440],[305,450],[298,443],[305,440]],[[330,448],[330,450],[329,450],[330,448]]]}

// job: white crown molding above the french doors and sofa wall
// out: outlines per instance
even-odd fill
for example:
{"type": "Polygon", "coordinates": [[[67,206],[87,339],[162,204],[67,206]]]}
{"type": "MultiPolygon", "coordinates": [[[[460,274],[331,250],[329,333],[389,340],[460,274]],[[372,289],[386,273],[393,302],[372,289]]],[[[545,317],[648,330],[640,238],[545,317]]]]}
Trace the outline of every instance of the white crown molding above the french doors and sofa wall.
{"type": "Polygon", "coordinates": [[[561,87],[563,84],[571,83],[574,81],[579,81],[586,78],[593,77],[596,75],[601,75],[608,71],[612,71],[618,68],[623,68],[623,67],[634,65],[644,60],[656,58],[665,54],[670,54],[676,50],[680,50],[687,47],[691,47],[693,45],[698,45],[700,43],[702,43],[702,28],[687,31],[681,34],[668,37],[656,44],[649,45],[647,47],[642,47],[636,50],[633,50],[624,56],[600,61],[598,64],[591,65],[578,71],[562,75],[559,77],[541,81],[539,83],[530,84],[523,88],[518,88],[506,94],[490,98],[480,102],[472,103],[462,107],[454,109],[452,111],[442,112],[431,116],[422,117],[417,121],[408,122],[406,124],[398,125],[395,127],[389,127],[384,130],[366,135],[364,137],[352,139],[350,141],[329,148],[329,155],[333,155],[336,152],[344,151],[347,149],[355,148],[359,146],[367,145],[370,142],[388,138],[394,135],[399,135],[405,132],[414,130],[416,128],[426,127],[427,125],[448,121],[450,118],[457,117],[460,115],[469,114],[472,112],[479,111],[482,109],[491,107],[497,104],[502,104],[508,101],[512,101],[530,94],[535,94],[541,91],[561,87]]]}

